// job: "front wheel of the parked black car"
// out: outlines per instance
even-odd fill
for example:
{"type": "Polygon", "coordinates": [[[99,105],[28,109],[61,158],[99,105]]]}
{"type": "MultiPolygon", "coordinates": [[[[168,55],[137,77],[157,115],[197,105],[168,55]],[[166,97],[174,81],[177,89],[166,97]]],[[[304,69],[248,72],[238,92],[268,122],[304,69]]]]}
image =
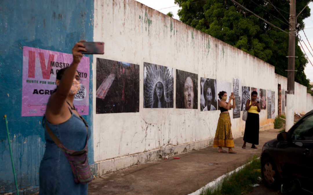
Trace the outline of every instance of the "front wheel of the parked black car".
{"type": "Polygon", "coordinates": [[[280,175],[271,158],[265,158],[261,163],[261,174],[264,184],[270,188],[277,188],[280,184],[280,175]]]}

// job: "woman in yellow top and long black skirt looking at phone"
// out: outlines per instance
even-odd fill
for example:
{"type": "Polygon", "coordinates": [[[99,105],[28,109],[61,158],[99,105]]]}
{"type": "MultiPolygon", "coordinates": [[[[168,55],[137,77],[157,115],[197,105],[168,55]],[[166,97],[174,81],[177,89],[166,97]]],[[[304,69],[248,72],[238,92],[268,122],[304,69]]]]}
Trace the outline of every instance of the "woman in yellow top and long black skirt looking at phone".
{"type": "Polygon", "coordinates": [[[256,101],[258,92],[252,91],[251,100],[246,102],[246,110],[248,110],[248,117],[246,120],[246,126],[244,128],[244,145],[246,143],[252,144],[251,148],[258,149],[255,145],[259,145],[259,112],[261,111],[261,105],[259,101],[256,101]]]}

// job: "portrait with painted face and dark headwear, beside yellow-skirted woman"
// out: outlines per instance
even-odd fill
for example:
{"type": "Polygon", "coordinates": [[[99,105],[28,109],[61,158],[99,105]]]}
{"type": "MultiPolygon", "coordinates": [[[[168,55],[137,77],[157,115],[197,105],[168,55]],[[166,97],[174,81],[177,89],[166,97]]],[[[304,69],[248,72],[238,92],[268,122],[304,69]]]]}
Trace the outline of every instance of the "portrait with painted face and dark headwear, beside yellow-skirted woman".
{"type": "Polygon", "coordinates": [[[216,80],[201,77],[200,88],[200,110],[217,110],[216,80]]]}

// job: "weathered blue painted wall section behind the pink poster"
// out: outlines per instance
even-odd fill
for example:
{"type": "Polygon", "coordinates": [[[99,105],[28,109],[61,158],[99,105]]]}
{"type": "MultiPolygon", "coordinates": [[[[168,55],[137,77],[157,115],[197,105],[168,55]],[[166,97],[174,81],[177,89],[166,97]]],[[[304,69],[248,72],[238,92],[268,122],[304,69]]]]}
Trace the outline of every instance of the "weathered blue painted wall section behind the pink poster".
{"type": "MultiPolygon", "coordinates": [[[[10,142],[18,188],[36,191],[39,163],[44,154],[42,117],[22,117],[23,46],[71,53],[75,42],[93,41],[93,1],[1,1],[0,8],[0,193],[14,192],[4,114],[8,117],[10,142]]],[[[89,115],[92,124],[92,70],[90,57],[89,115]]],[[[94,163],[93,136],[89,139],[89,162],[94,163]]]]}

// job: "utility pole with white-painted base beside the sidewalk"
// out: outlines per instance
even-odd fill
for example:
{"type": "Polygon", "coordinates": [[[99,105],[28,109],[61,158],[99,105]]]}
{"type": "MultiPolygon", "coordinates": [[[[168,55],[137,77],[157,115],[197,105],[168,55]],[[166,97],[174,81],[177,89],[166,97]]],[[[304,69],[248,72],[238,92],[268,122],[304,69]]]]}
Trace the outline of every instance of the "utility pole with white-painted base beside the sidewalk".
{"type": "Polygon", "coordinates": [[[294,100],[295,100],[295,25],[296,12],[295,1],[290,0],[289,15],[289,46],[288,46],[288,70],[287,70],[287,110],[286,131],[294,124],[294,100]]]}

